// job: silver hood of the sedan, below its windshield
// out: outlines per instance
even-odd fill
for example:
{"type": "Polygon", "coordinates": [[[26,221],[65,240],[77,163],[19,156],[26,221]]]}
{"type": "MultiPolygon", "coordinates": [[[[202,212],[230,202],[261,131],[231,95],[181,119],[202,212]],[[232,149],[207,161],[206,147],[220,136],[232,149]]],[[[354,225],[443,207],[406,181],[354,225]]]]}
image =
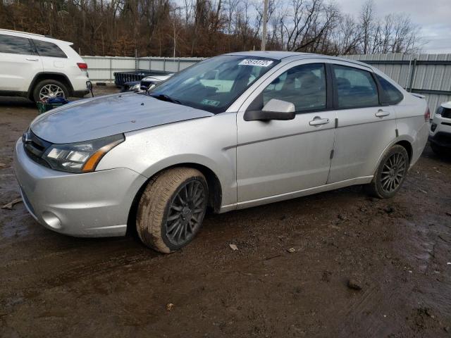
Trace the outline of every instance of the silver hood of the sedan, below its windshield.
{"type": "Polygon", "coordinates": [[[52,109],[35,118],[30,128],[48,142],[72,143],[211,115],[214,114],[152,96],[122,93],[52,109]]]}

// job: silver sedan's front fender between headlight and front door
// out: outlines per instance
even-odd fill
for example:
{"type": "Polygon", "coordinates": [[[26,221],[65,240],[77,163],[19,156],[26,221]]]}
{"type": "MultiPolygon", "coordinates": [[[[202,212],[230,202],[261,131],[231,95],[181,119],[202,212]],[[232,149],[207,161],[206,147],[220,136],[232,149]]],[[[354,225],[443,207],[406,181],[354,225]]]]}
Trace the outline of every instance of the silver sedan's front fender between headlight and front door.
{"type": "Polygon", "coordinates": [[[236,130],[236,113],[221,113],[128,132],[126,141],[109,151],[97,170],[133,168],[145,177],[152,177],[173,165],[203,165],[221,183],[222,204],[235,205],[236,130]]]}

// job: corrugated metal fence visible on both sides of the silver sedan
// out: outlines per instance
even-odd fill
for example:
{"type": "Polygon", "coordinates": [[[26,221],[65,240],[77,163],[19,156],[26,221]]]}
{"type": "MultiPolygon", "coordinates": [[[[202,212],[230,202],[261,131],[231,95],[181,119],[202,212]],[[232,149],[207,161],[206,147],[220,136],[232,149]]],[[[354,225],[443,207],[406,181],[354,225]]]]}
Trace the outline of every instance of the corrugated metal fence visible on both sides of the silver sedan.
{"type": "MultiPolygon", "coordinates": [[[[367,54],[343,56],[373,65],[409,92],[426,96],[431,112],[441,102],[451,101],[451,54],[367,54]]],[[[204,58],[122,58],[83,56],[89,77],[95,81],[114,81],[114,72],[163,70],[178,72],[204,58]]]]}

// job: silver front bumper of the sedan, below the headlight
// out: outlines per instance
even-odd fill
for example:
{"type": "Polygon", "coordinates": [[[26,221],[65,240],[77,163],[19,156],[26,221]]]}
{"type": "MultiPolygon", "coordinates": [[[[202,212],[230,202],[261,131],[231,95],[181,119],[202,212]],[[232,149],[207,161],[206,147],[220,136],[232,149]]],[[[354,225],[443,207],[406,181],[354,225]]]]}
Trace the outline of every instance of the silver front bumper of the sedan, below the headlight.
{"type": "Polygon", "coordinates": [[[30,214],[51,230],[78,237],[122,236],[146,177],[128,168],[63,173],[32,161],[16,143],[14,169],[30,214]]]}

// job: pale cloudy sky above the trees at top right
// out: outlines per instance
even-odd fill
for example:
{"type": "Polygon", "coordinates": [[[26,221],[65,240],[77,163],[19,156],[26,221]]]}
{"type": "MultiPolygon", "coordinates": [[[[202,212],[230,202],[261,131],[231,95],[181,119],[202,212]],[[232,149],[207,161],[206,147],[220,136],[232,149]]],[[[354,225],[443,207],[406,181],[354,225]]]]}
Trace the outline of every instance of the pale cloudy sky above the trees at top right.
{"type": "MultiPolygon", "coordinates": [[[[357,15],[364,0],[335,0],[343,12],[357,15]]],[[[374,0],[379,18],[407,13],[419,25],[426,53],[451,53],[451,0],[374,0]]]]}

